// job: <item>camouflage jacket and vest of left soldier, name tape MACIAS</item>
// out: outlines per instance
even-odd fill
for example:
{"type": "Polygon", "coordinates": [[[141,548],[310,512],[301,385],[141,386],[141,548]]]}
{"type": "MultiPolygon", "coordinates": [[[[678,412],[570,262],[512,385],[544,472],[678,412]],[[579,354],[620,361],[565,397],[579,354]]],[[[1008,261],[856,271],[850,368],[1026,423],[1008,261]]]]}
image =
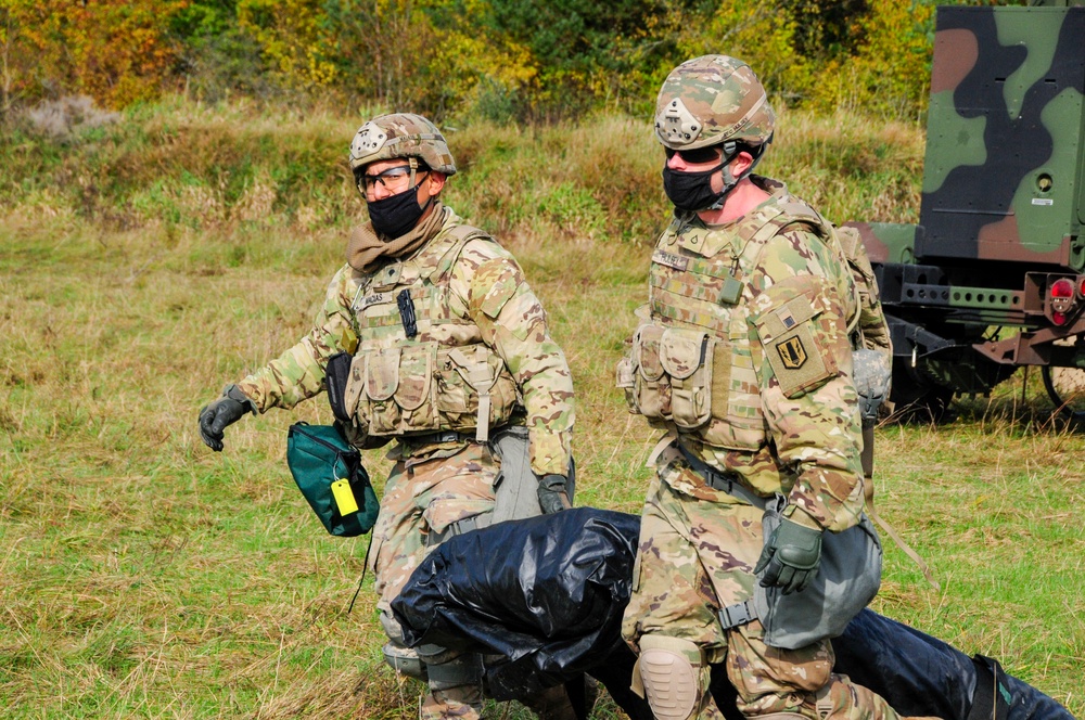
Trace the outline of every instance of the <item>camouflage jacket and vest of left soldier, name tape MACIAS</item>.
{"type": "Polygon", "coordinates": [[[398,438],[399,457],[420,455],[465,441],[446,430],[485,439],[515,415],[532,470],[566,475],[572,377],[546,312],[510,253],[443,211],[411,257],[340,269],[309,334],[238,386],[260,412],[291,408],[324,389],[328,359],[345,350],[355,356],[347,411],[362,436],[398,438]]]}

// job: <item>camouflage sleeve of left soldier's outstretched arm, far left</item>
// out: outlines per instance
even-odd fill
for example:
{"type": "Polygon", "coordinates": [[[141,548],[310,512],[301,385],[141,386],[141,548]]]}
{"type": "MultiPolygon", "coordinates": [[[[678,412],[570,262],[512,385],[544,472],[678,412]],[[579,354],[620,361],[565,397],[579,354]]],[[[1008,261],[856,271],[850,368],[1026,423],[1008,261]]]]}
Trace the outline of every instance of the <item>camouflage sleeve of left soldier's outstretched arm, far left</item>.
{"type": "Polygon", "coordinates": [[[328,285],[328,294],[312,330],[278,358],[238,383],[260,412],[271,408],[293,408],[324,389],[328,358],[341,351],[354,351],[358,337],[354,331],[350,304],[354,301],[349,266],[344,266],[328,285]]]}

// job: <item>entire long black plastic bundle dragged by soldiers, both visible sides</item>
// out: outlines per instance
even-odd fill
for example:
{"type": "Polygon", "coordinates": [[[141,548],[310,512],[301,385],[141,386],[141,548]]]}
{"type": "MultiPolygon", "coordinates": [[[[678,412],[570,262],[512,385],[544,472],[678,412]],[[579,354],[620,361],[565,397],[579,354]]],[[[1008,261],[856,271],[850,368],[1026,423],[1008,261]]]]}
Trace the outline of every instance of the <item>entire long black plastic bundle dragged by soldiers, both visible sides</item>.
{"type": "MultiPolygon", "coordinates": [[[[392,609],[411,645],[505,656],[486,668],[487,692],[497,699],[587,672],[630,718],[650,720],[644,702],[629,692],[635,658],[621,638],[639,531],[636,515],[577,507],[468,532],[426,557],[392,609]]],[[[903,716],[1072,720],[993,660],[970,658],[869,609],[833,647],[837,672],[882,695],[903,716]]],[[[736,717],[735,691],[723,673],[714,676],[713,694],[736,717]]]]}

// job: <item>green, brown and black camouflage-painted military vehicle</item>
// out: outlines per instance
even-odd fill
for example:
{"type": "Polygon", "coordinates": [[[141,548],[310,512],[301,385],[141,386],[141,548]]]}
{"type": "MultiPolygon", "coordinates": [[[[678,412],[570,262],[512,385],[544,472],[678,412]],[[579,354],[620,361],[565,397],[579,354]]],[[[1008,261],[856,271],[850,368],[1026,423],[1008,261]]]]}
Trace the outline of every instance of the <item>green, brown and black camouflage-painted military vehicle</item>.
{"type": "Polygon", "coordinates": [[[1039,365],[1085,420],[1085,0],[937,11],[920,224],[859,229],[893,399],[937,417],[1039,365]]]}

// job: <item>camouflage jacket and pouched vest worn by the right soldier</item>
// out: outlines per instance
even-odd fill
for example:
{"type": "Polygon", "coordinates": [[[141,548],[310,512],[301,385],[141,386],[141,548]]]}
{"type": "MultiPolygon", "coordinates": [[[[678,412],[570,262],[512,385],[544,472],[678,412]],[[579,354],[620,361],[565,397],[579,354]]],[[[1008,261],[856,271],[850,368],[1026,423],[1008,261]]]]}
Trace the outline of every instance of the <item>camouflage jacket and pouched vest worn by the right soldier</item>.
{"type": "Polygon", "coordinates": [[[618,382],[635,411],[710,466],[845,529],[863,510],[855,286],[824,219],[781,183],[752,179],[773,196],[736,222],[679,214],[660,237],[650,320],[618,382]]]}

